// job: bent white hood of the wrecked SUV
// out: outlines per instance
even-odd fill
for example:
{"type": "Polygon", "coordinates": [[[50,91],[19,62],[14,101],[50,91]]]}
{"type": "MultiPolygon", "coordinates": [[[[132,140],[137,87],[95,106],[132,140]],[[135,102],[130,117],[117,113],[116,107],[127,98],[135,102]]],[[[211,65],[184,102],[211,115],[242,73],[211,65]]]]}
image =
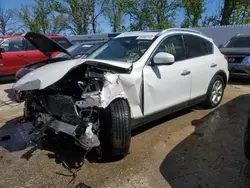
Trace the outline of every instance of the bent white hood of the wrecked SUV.
{"type": "Polygon", "coordinates": [[[14,85],[17,91],[44,89],[63,78],[70,70],[79,65],[86,64],[103,71],[117,74],[129,74],[132,71],[132,63],[117,61],[96,60],[96,59],[74,59],[48,64],[29,72],[14,85]]]}

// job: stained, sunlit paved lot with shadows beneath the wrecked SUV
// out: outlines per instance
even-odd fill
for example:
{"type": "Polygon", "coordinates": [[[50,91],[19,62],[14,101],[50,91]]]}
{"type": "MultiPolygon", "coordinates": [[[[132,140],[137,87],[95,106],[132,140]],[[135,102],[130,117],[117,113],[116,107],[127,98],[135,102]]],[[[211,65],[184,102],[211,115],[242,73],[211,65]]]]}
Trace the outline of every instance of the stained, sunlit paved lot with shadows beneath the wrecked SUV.
{"type": "MultiPolygon", "coordinates": [[[[9,100],[10,85],[0,87],[0,100],[9,100]]],[[[18,121],[22,105],[2,102],[0,137],[11,139],[0,141],[0,187],[250,187],[242,148],[249,91],[246,83],[229,85],[215,110],[194,107],[133,131],[130,155],[112,163],[90,155],[72,183],[63,163],[74,171],[78,148],[63,138],[26,148],[31,125],[18,121]]]]}

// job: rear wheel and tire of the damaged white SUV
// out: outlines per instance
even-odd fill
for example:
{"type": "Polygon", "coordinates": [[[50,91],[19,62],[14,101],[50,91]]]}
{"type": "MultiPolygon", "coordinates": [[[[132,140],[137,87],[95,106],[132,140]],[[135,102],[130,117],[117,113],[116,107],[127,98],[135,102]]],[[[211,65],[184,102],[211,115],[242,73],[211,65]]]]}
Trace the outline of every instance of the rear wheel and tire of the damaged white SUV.
{"type": "Polygon", "coordinates": [[[217,107],[223,98],[224,89],[225,83],[223,78],[220,75],[214,76],[209,84],[204,106],[209,109],[217,107]],[[216,98],[215,95],[217,95],[216,98]]]}

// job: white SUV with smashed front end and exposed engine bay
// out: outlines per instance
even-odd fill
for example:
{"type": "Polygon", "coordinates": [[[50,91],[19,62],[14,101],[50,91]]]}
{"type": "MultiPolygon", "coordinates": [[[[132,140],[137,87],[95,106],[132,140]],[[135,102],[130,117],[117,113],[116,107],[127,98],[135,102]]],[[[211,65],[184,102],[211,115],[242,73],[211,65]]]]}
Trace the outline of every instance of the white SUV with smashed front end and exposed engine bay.
{"type": "MultiPolygon", "coordinates": [[[[68,53],[40,34],[25,38],[44,54],[68,53]]],[[[131,129],[195,104],[216,107],[227,81],[227,61],[212,39],[176,28],[120,34],[87,59],[49,63],[13,88],[26,91],[26,115],[41,132],[124,157],[131,129]]]]}

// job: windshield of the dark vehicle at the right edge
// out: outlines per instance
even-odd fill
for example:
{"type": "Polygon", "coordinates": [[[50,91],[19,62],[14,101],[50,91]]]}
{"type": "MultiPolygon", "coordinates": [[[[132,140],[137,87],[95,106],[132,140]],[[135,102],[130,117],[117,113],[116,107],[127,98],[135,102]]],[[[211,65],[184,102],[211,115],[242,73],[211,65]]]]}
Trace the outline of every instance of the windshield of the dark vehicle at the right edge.
{"type": "Polygon", "coordinates": [[[250,48],[250,37],[234,37],[228,41],[225,48],[250,48]]]}

